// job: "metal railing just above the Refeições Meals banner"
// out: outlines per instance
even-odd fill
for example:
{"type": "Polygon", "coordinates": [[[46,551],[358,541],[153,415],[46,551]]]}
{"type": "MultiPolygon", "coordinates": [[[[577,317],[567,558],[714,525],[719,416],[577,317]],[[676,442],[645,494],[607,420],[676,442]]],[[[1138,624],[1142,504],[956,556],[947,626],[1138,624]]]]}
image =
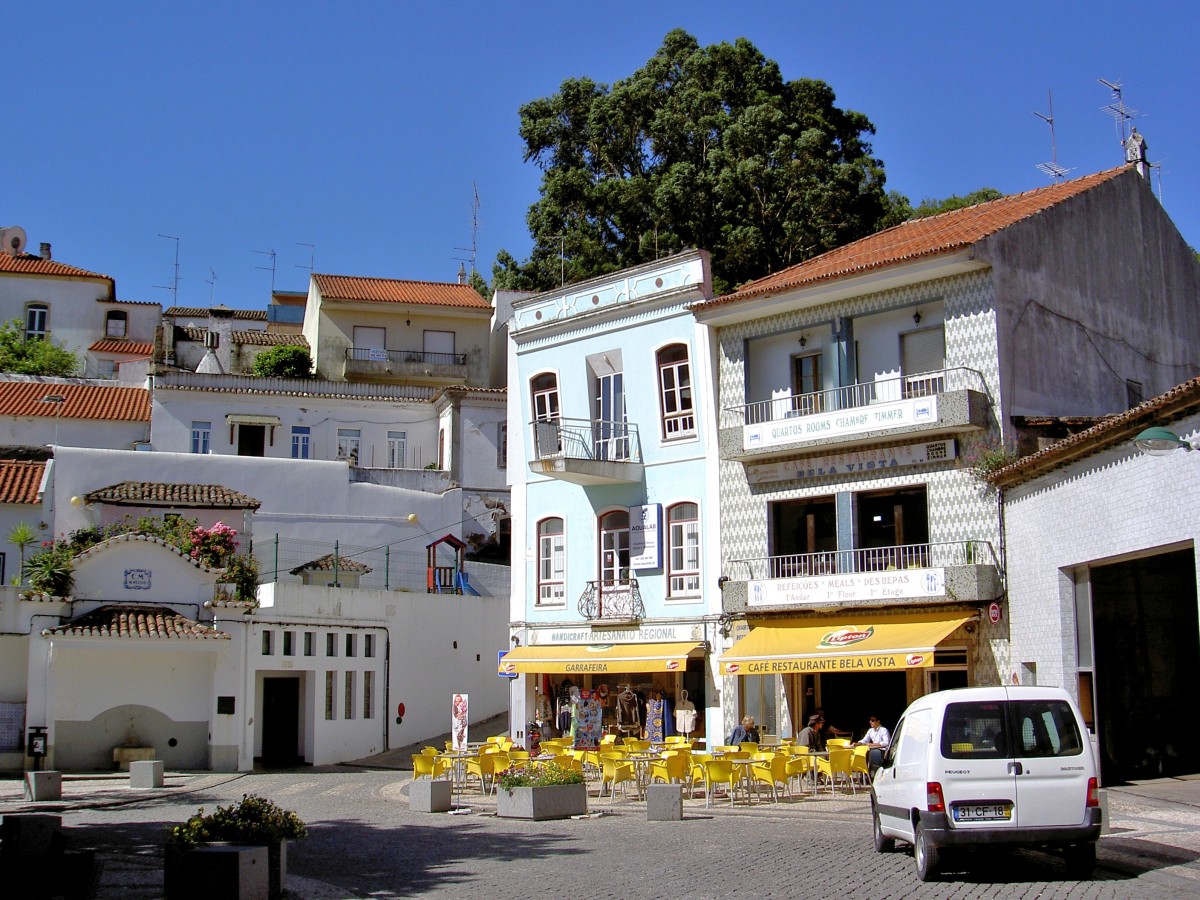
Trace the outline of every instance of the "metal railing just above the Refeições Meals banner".
{"type": "Polygon", "coordinates": [[[944,569],[952,565],[998,568],[996,551],[988,541],[905,544],[896,547],[830,550],[823,553],[793,553],[730,562],[745,568],[748,581],[809,578],[818,575],[851,575],[890,569],[944,569]]]}

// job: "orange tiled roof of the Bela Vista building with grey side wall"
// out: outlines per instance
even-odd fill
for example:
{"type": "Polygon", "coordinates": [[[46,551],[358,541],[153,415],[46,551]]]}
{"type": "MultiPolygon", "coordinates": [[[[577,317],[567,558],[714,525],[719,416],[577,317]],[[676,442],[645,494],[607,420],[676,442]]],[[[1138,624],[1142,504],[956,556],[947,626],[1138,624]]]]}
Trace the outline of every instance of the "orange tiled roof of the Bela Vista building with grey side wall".
{"type": "Polygon", "coordinates": [[[736,304],[764,294],[776,294],[784,290],[816,284],[833,278],[874,269],[882,269],[898,263],[906,263],[923,257],[948,253],[970,247],[990,234],[1007,228],[1022,218],[1037,215],[1043,210],[1070,199],[1122,173],[1132,172],[1122,166],[1106,172],[1098,172],[1073,181],[1062,181],[1036,191],[1014,193],[998,200],[979,203],[966,209],[942,212],[926,218],[913,218],[887,230],[830,250],[818,257],[793,265],[782,271],[743,284],[732,294],[692,304],[689,308],[703,311],[726,304],[736,304]]]}

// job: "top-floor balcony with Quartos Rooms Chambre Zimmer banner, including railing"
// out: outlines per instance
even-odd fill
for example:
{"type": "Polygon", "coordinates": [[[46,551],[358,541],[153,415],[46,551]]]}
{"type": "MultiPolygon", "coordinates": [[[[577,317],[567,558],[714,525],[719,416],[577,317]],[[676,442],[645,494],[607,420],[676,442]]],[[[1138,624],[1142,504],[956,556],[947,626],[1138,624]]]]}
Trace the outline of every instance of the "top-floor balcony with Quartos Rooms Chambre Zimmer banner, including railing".
{"type": "Polygon", "coordinates": [[[896,437],[937,437],[988,427],[991,401],[973,368],[892,376],[787,395],[722,410],[725,460],[756,461],[815,448],[839,450],[896,437]]]}

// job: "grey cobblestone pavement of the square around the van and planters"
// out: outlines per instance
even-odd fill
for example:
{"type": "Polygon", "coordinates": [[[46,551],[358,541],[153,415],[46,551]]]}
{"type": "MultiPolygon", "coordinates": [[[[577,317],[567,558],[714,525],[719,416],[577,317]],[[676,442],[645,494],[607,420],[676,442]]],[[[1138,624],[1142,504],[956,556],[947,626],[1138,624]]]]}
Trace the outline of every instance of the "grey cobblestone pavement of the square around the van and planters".
{"type": "MultiPolygon", "coordinates": [[[[1112,833],[1090,882],[1069,881],[1061,858],[1032,851],[962,853],[922,884],[912,856],[874,851],[869,802],[857,796],[728,804],[686,800],[684,821],[648,822],[644,804],[596,799],[593,817],[500,820],[478,788],[458,815],[413,812],[412,774],[334,767],[251,774],[172,774],[134,791],[126,779],[64,785],[61,803],[24,803],[0,781],[0,815],[55,811],[74,847],[104,862],[98,896],[162,894],[163,828],[198,806],[269,797],[310,824],[288,851],[295,900],[338,898],[1170,898],[1200,894],[1200,782],[1110,793],[1112,833]],[[1180,800],[1180,797],[1183,797],[1180,800]],[[469,811],[467,811],[469,809],[469,811]],[[595,814],[602,815],[595,815],[595,814]]],[[[1156,787],[1158,786],[1158,787],[1156,787]]]]}

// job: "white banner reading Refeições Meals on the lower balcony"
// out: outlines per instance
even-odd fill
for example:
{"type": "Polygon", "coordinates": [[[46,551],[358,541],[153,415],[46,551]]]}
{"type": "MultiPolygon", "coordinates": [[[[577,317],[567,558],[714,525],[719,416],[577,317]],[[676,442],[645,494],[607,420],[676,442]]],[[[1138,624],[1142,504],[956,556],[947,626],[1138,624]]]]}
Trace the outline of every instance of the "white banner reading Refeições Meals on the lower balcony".
{"type": "Polygon", "coordinates": [[[882,572],[761,578],[749,583],[748,606],[857,604],[868,600],[916,600],[946,593],[944,569],[896,569],[882,572]]]}

